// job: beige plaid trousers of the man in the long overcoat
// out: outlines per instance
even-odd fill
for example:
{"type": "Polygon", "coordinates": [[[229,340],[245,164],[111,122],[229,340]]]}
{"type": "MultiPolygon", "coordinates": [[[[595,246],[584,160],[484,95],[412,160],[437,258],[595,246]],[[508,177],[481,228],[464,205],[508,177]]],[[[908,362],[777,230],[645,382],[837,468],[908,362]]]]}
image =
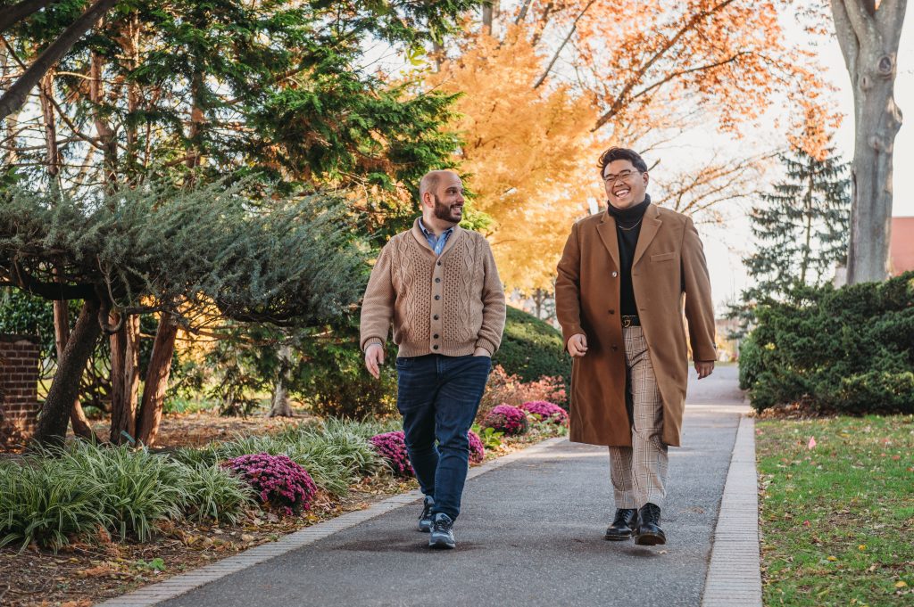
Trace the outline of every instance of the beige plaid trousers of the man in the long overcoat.
{"type": "Polygon", "coordinates": [[[664,403],[654,376],[641,327],[622,329],[625,369],[631,400],[629,421],[632,446],[610,447],[610,476],[616,508],[641,508],[652,503],[664,506],[669,458],[662,436],[664,403]]]}

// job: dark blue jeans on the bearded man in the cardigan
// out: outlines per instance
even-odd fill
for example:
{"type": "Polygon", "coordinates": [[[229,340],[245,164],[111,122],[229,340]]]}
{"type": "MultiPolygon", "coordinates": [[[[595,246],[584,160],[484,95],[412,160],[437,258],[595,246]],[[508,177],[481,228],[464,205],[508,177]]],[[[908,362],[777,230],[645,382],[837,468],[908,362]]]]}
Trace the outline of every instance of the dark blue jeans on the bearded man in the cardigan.
{"type": "Polygon", "coordinates": [[[443,512],[452,519],[460,514],[470,466],[466,434],[491,367],[488,356],[429,354],[397,359],[397,408],[403,415],[409,461],[422,493],[435,500],[433,514],[443,512]]]}

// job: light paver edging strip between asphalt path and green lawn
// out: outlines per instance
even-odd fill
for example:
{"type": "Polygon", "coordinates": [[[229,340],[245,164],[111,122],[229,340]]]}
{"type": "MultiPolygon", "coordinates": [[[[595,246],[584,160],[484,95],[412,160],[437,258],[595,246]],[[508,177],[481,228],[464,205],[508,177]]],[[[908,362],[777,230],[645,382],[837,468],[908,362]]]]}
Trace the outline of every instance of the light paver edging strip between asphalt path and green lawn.
{"type": "Polygon", "coordinates": [[[702,607],[761,607],[755,420],[739,420],[714,530],[702,607]]]}

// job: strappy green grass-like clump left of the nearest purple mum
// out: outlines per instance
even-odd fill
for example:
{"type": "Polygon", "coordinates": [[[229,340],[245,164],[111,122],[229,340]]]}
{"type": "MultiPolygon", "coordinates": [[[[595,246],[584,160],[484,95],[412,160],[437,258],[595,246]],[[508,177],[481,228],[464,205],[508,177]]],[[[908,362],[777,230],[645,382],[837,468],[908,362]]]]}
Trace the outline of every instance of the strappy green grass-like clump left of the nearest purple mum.
{"type": "Polygon", "coordinates": [[[77,441],[0,465],[0,546],[58,549],[104,528],[141,541],[166,518],[237,520],[250,488],[218,466],[77,441]]]}

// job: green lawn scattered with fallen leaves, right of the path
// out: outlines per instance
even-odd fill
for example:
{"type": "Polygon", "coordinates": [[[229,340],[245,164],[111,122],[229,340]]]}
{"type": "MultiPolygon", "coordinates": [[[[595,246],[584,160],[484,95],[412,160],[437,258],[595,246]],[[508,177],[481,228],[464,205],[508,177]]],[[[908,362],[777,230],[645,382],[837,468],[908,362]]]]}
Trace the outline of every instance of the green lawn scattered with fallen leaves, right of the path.
{"type": "Polygon", "coordinates": [[[914,416],[756,434],[765,605],[914,605],[914,416]]]}

